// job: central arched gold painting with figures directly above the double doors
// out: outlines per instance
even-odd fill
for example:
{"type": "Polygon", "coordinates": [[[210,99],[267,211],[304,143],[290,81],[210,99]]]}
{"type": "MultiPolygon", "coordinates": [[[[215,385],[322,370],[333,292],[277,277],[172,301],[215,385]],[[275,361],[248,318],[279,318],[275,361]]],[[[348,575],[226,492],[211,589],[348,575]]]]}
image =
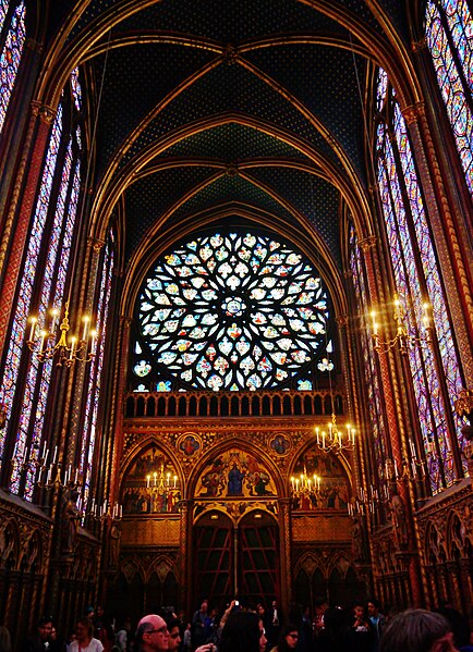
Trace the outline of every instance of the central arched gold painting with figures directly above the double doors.
{"type": "Polygon", "coordinates": [[[238,450],[211,457],[195,489],[198,497],[276,496],[274,480],[253,455],[238,450]]]}

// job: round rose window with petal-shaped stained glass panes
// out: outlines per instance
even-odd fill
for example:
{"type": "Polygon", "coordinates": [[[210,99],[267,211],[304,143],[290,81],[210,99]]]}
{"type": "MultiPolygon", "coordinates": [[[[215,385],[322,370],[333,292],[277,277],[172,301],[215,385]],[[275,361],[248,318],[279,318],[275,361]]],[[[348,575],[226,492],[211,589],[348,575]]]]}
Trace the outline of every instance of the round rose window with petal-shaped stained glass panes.
{"type": "Polygon", "coordinates": [[[252,233],[203,235],[146,279],[134,373],[158,369],[159,381],[214,391],[296,383],[327,357],[328,318],[319,275],[292,247],[252,233]]]}

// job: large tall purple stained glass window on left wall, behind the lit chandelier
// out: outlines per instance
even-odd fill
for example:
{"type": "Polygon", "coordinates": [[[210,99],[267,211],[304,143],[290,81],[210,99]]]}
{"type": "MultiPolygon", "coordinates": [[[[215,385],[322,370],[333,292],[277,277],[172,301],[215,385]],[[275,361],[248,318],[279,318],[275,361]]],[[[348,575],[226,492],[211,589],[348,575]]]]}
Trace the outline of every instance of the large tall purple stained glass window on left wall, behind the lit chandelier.
{"type": "MultiPolygon", "coordinates": [[[[15,428],[10,489],[15,493],[22,492],[28,500],[33,499],[38,469],[34,464],[22,469],[22,462],[35,462],[40,453],[47,451],[47,433],[44,432],[44,426],[53,364],[51,360],[40,364],[36,356],[28,355],[25,339],[32,339],[32,334],[37,334],[38,327],[32,330],[27,320],[32,311],[32,298],[36,292],[39,296],[38,324],[46,324],[49,308],[60,308],[63,303],[80,194],[81,131],[77,126],[72,134],[64,134],[66,104],[68,101],[63,100],[58,107],[51,130],[21,275],[7,364],[0,383],[0,402],[7,407],[7,427],[0,440],[0,452],[3,452],[8,429],[15,428]],[[61,157],[62,144],[64,153],[61,157]],[[58,190],[53,194],[52,188],[56,184],[58,190]],[[40,256],[45,256],[43,266],[38,265],[40,256]],[[25,380],[20,386],[19,378],[22,370],[25,380]],[[14,404],[21,405],[22,408],[17,422],[12,423],[14,404]]],[[[51,452],[49,453],[51,455],[51,452]]]]}

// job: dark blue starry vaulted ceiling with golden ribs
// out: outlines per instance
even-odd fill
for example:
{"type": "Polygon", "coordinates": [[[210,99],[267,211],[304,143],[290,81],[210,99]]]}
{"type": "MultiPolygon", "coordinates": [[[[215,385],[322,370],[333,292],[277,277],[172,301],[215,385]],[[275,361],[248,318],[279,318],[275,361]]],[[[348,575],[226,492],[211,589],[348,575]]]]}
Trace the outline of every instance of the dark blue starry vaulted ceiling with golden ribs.
{"type": "Polygon", "coordinates": [[[317,233],[342,271],[342,188],[369,185],[367,46],[388,47],[385,19],[409,42],[404,2],[71,4],[64,48],[89,38],[96,98],[102,84],[94,186],[121,199],[125,260],[225,211],[317,233]]]}

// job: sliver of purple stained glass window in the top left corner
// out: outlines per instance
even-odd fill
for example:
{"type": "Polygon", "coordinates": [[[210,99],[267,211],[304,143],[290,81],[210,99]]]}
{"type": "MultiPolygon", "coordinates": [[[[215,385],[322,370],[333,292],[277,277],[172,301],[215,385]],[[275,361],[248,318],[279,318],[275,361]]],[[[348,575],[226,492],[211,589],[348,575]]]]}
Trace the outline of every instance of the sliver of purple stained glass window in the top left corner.
{"type": "Polygon", "coordinates": [[[0,42],[4,42],[0,54],[0,134],[26,39],[24,2],[12,7],[13,11],[9,11],[9,2],[0,2],[0,42]]]}

